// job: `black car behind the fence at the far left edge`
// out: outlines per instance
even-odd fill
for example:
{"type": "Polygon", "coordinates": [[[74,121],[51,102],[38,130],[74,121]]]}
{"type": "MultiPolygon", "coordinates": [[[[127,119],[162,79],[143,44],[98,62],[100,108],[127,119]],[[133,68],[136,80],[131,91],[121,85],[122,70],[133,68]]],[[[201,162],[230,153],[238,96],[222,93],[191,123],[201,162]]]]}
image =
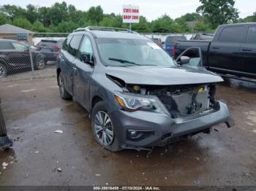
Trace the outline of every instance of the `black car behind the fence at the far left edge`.
{"type": "MultiPolygon", "coordinates": [[[[44,69],[44,56],[31,48],[34,69],[44,69]]],[[[31,69],[29,46],[15,40],[0,39],[0,78],[20,69],[31,69]]]]}

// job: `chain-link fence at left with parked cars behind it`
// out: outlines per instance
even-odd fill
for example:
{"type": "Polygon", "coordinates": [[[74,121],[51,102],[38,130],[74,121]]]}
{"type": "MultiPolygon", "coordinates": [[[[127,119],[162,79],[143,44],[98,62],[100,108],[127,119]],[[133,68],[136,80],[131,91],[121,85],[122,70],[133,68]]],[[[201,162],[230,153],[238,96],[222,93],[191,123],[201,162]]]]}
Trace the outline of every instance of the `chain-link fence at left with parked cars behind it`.
{"type": "Polygon", "coordinates": [[[56,56],[67,35],[1,34],[0,82],[54,77],[56,56]]]}

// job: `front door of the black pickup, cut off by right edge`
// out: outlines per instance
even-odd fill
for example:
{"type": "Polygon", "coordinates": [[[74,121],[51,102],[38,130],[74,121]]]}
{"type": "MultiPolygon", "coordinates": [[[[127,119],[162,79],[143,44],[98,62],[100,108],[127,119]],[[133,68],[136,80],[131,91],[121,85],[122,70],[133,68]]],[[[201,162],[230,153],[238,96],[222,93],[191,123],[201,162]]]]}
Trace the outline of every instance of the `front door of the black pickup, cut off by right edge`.
{"type": "Polygon", "coordinates": [[[244,60],[244,72],[250,73],[248,77],[256,78],[256,25],[247,27],[246,39],[241,45],[241,55],[244,60]]]}

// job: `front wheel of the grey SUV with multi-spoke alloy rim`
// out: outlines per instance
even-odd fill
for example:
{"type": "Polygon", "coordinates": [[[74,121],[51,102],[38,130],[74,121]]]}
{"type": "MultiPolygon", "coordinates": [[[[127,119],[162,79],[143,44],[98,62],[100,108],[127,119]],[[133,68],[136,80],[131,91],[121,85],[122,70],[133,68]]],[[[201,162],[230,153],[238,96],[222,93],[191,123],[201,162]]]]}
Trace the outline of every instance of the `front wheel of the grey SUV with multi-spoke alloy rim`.
{"type": "Polygon", "coordinates": [[[99,101],[91,112],[91,128],[94,139],[102,147],[112,152],[122,150],[116,139],[115,127],[110,114],[108,114],[108,109],[103,101],[99,101]]]}

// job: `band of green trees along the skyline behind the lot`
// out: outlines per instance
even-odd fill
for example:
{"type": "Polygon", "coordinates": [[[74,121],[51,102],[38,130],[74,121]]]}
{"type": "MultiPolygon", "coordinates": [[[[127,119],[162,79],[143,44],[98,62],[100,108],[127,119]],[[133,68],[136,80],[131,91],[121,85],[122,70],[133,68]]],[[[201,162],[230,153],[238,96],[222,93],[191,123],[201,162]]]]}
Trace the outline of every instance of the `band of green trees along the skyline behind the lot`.
{"type": "MultiPolygon", "coordinates": [[[[148,22],[140,16],[140,23],[133,23],[132,30],[138,32],[185,33],[193,31],[212,31],[223,23],[256,22],[254,15],[244,19],[238,18],[234,0],[200,0],[202,5],[197,12],[187,13],[173,20],[162,15],[148,22]],[[201,15],[200,15],[200,14],[201,15]],[[195,28],[191,23],[195,22],[195,28]]],[[[90,7],[88,11],[78,10],[65,1],[54,3],[51,7],[36,7],[28,4],[26,9],[5,4],[0,6],[0,25],[11,23],[35,32],[72,32],[75,28],[86,26],[108,26],[129,28],[123,23],[122,15],[104,14],[102,7],[90,7]]]]}

